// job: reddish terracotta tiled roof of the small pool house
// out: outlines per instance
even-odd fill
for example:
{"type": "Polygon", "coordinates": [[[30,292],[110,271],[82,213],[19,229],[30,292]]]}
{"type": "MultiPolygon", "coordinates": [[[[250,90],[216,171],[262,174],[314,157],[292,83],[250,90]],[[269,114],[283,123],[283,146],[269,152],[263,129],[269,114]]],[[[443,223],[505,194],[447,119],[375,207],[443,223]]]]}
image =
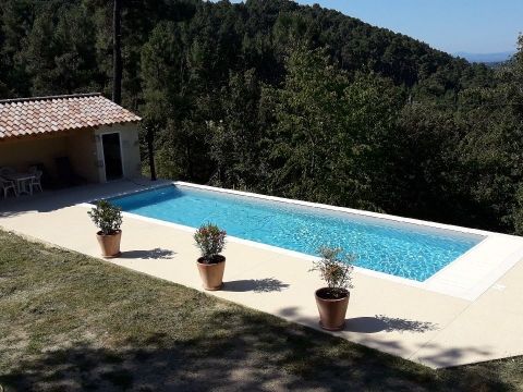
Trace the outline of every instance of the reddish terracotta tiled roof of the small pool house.
{"type": "Polygon", "coordinates": [[[0,140],[139,120],[100,94],[7,99],[0,100],[0,140]]]}

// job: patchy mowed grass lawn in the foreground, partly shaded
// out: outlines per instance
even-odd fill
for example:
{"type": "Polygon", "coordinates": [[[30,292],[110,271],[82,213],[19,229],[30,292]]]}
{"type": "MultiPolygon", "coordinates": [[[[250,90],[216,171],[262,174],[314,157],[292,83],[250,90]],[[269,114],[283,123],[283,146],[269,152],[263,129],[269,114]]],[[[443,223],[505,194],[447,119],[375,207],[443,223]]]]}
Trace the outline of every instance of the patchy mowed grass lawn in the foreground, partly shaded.
{"type": "Polygon", "coordinates": [[[523,389],[521,357],[434,371],[11,233],[0,248],[7,391],[523,389]]]}

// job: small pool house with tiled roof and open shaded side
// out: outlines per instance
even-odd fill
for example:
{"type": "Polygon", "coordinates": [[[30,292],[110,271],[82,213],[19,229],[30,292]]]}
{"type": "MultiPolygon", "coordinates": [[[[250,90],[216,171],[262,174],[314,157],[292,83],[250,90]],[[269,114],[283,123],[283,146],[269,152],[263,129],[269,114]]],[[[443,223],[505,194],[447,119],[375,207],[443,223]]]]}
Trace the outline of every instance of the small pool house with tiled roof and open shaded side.
{"type": "Polygon", "coordinates": [[[37,166],[57,183],[64,172],[90,183],[137,177],[139,121],[100,94],[0,100],[0,168],[37,166]]]}

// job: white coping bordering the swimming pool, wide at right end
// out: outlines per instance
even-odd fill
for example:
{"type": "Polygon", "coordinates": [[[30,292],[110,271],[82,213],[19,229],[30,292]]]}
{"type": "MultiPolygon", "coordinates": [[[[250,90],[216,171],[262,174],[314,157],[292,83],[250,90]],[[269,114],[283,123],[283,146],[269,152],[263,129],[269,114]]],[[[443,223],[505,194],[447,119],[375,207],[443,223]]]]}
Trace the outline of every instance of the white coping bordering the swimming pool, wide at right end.
{"type": "MultiPolygon", "coordinates": [[[[458,257],[454,261],[445,266],[442,269],[440,269],[439,271],[437,271],[435,274],[433,274],[430,278],[428,278],[423,282],[402,278],[402,277],[397,277],[389,273],[379,272],[379,271],[375,271],[375,270],[370,270],[370,269],[366,269],[357,266],[354,267],[354,269],[357,272],[366,275],[370,275],[379,279],[386,279],[397,283],[458,297],[458,298],[470,301],[470,302],[473,302],[478,296],[481,296],[486,290],[492,286],[496,283],[496,281],[499,280],[499,278],[501,278],[519,260],[523,258],[523,238],[513,236],[513,235],[495,233],[495,232],[477,230],[477,229],[463,228],[463,226],[445,224],[445,223],[423,221],[423,220],[417,220],[412,218],[403,218],[403,217],[379,213],[379,212],[356,210],[356,209],[346,208],[346,207],[338,207],[338,206],[330,206],[330,205],[324,205],[324,204],[317,204],[317,203],[311,203],[311,201],[288,199],[288,198],[281,198],[276,196],[267,196],[267,195],[260,195],[255,193],[248,193],[243,191],[226,189],[226,188],[193,184],[193,183],[187,183],[182,181],[172,181],[168,183],[145,186],[137,191],[117,193],[108,196],[108,198],[129,196],[129,195],[138,194],[143,192],[148,192],[151,189],[172,186],[172,185],[182,186],[182,187],[185,186],[190,188],[196,188],[196,189],[208,191],[208,192],[218,192],[218,193],[229,194],[234,196],[257,198],[257,199],[263,199],[268,201],[291,204],[291,205],[323,209],[328,211],[351,213],[362,218],[370,218],[373,220],[381,219],[381,220],[387,220],[388,222],[396,222],[399,224],[419,225],[419,226],[423,226],[424,230],[436,229],[438,231],[445,230],[445,231],[452,231],[454,233],[460,233],[460,234],[482,236],[483,240],[478,244],[473,246],[471,249],[469,249],[463,255],[458,257]],[[509,243],[511,244],[511,246],[507,247],[507,244],[509,243]],[[516,247],[515,250],[513,250],[514,246],[516,247]],[[507,252],[504,252],[504,254],[503,252],[501,252],[502,256],[500,257],[485,259],[485,257],[482,256],[482,253],[485,253],[486,250],[485,248],[488,248],[489,252],[492,252],[491,248],[495,248],[496,254],[499,254],[501,249],[507,252]]],[[[82,203],[80,205],[84,207],[93,206],[92,201],[82,203]]],[[[156,223],[165,226],[175,228],[175,229],[180,229],[191,233],[194,233],[196,230],[195,228],[192,228],[192,226],[168,222],[161,219],[148,218],[137,213],[133,213],[133,212],[123,211],[122,215],[124,217],[132,217],[134,219],[143,220],[146,222],[151,222],[151,223],[156,223]]],[[[278,246],[263,244],[263,243],[258,243],[250,240],[244,240],[244,238],[240,238],[232,235],[228,235],[228,241],[245,244],[245,245],[257,247],[260,249],[276,252],[282,255],[289,255],[289,256],[301,258],[304,260],[311,261],[311,260],[318,259],[318,257],[316,256],[311,256],[300,252],[289,250],[278,246]]]]}

